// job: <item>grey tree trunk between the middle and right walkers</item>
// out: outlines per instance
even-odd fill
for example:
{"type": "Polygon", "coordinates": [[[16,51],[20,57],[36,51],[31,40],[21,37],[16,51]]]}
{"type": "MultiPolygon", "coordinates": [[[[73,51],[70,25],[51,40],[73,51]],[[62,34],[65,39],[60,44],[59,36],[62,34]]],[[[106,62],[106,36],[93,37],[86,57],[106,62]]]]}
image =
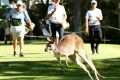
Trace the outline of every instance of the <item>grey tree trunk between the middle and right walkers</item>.
{"type": "Polygon", "coordinates": [[[81,29],[81,10],[80,0],[74,0],[74,31],[79,32],[81,29]]]}

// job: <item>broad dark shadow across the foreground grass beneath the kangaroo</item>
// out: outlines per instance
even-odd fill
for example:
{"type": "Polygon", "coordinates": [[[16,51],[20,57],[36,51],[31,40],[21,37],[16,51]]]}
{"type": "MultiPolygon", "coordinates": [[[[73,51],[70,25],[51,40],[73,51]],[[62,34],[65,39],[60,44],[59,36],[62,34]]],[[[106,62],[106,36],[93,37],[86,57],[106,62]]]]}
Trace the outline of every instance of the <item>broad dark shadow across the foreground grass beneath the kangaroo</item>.
{"type": "MultiPolygon", "coordinates": [[[[62,72],[57,61],[0,62],[0,76],[18,76],[5,80],[89,80],[81,68],[73,63],[69,64],[71,67],[65,68],[65,72],[62,72]],[[40,78],[37,79],[37,76],[40,78]],[[42,76],[46,76],[48,79],[42,76]],[[51,79],[49,76],[59,78],[51,79]]],[[[98,71],[107,77],[104,80],[120,80],[120,58],[94,61],[94,64],[98,71]]],[[[93,75],[92,71],[91,74],[93,75]]]]}

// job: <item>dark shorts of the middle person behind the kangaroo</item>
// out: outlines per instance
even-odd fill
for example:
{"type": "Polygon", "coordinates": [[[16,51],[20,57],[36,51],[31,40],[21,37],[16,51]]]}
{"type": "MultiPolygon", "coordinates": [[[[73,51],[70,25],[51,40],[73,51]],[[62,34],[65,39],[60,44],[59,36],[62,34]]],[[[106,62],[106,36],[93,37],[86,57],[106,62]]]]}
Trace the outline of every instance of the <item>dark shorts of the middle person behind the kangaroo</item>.
{"type": "Polygon", "coordinates": [[[51,33],[53,38],[56,38],[56,32],[58,32],[59,38],[63,37],[64,29],[62,24],[51,23],[51,33]]]}

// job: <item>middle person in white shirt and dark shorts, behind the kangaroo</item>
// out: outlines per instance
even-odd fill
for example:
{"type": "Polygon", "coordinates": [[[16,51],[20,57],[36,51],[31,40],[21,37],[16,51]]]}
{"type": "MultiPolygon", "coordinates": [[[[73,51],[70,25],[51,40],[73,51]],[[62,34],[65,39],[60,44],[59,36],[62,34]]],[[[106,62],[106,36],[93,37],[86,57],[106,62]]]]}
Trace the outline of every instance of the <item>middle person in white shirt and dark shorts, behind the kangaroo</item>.
{"type": "Polygon", "coordinates": [[[56,40],[56,32],[59,34],[59,39],[63,37],[63,24],[67,19],[67,14],[63,5],[60,5],[60,0],[54,0],[53,4],[48,7],[48,14],[45,19],[51,22],[51,32],[53,41],[58,43],[56,40]]]}

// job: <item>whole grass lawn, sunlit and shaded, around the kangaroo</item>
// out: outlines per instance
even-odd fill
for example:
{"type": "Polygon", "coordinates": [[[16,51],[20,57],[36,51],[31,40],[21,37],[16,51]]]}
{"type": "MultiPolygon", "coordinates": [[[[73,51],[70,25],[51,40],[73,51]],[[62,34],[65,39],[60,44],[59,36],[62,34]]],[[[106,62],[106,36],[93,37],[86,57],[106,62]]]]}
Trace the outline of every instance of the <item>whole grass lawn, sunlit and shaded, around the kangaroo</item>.
{"type": "MultiPolygon", "coordinates": [[[[88,75],[76,64],[69,61],[70,68],[61,71],[52,52],[44,52],[45,41],[26,41],[23,58],[13,57],[12,45],[0,42],[0,80],[89,80],[88,75]]],[[[90,45],[85,44],[89,56],[98,71],[106,76],[101,80],[120,80],[120,45],[101,44],[100,54],[91,54],[90,45]]],[[[63,64],[65,62],[63,61],[63,64]]],[[[85,65],[87,65],[84,62],[85,65]]],[[[91,74],[92,70],[87,65],[91,74]]]]}

